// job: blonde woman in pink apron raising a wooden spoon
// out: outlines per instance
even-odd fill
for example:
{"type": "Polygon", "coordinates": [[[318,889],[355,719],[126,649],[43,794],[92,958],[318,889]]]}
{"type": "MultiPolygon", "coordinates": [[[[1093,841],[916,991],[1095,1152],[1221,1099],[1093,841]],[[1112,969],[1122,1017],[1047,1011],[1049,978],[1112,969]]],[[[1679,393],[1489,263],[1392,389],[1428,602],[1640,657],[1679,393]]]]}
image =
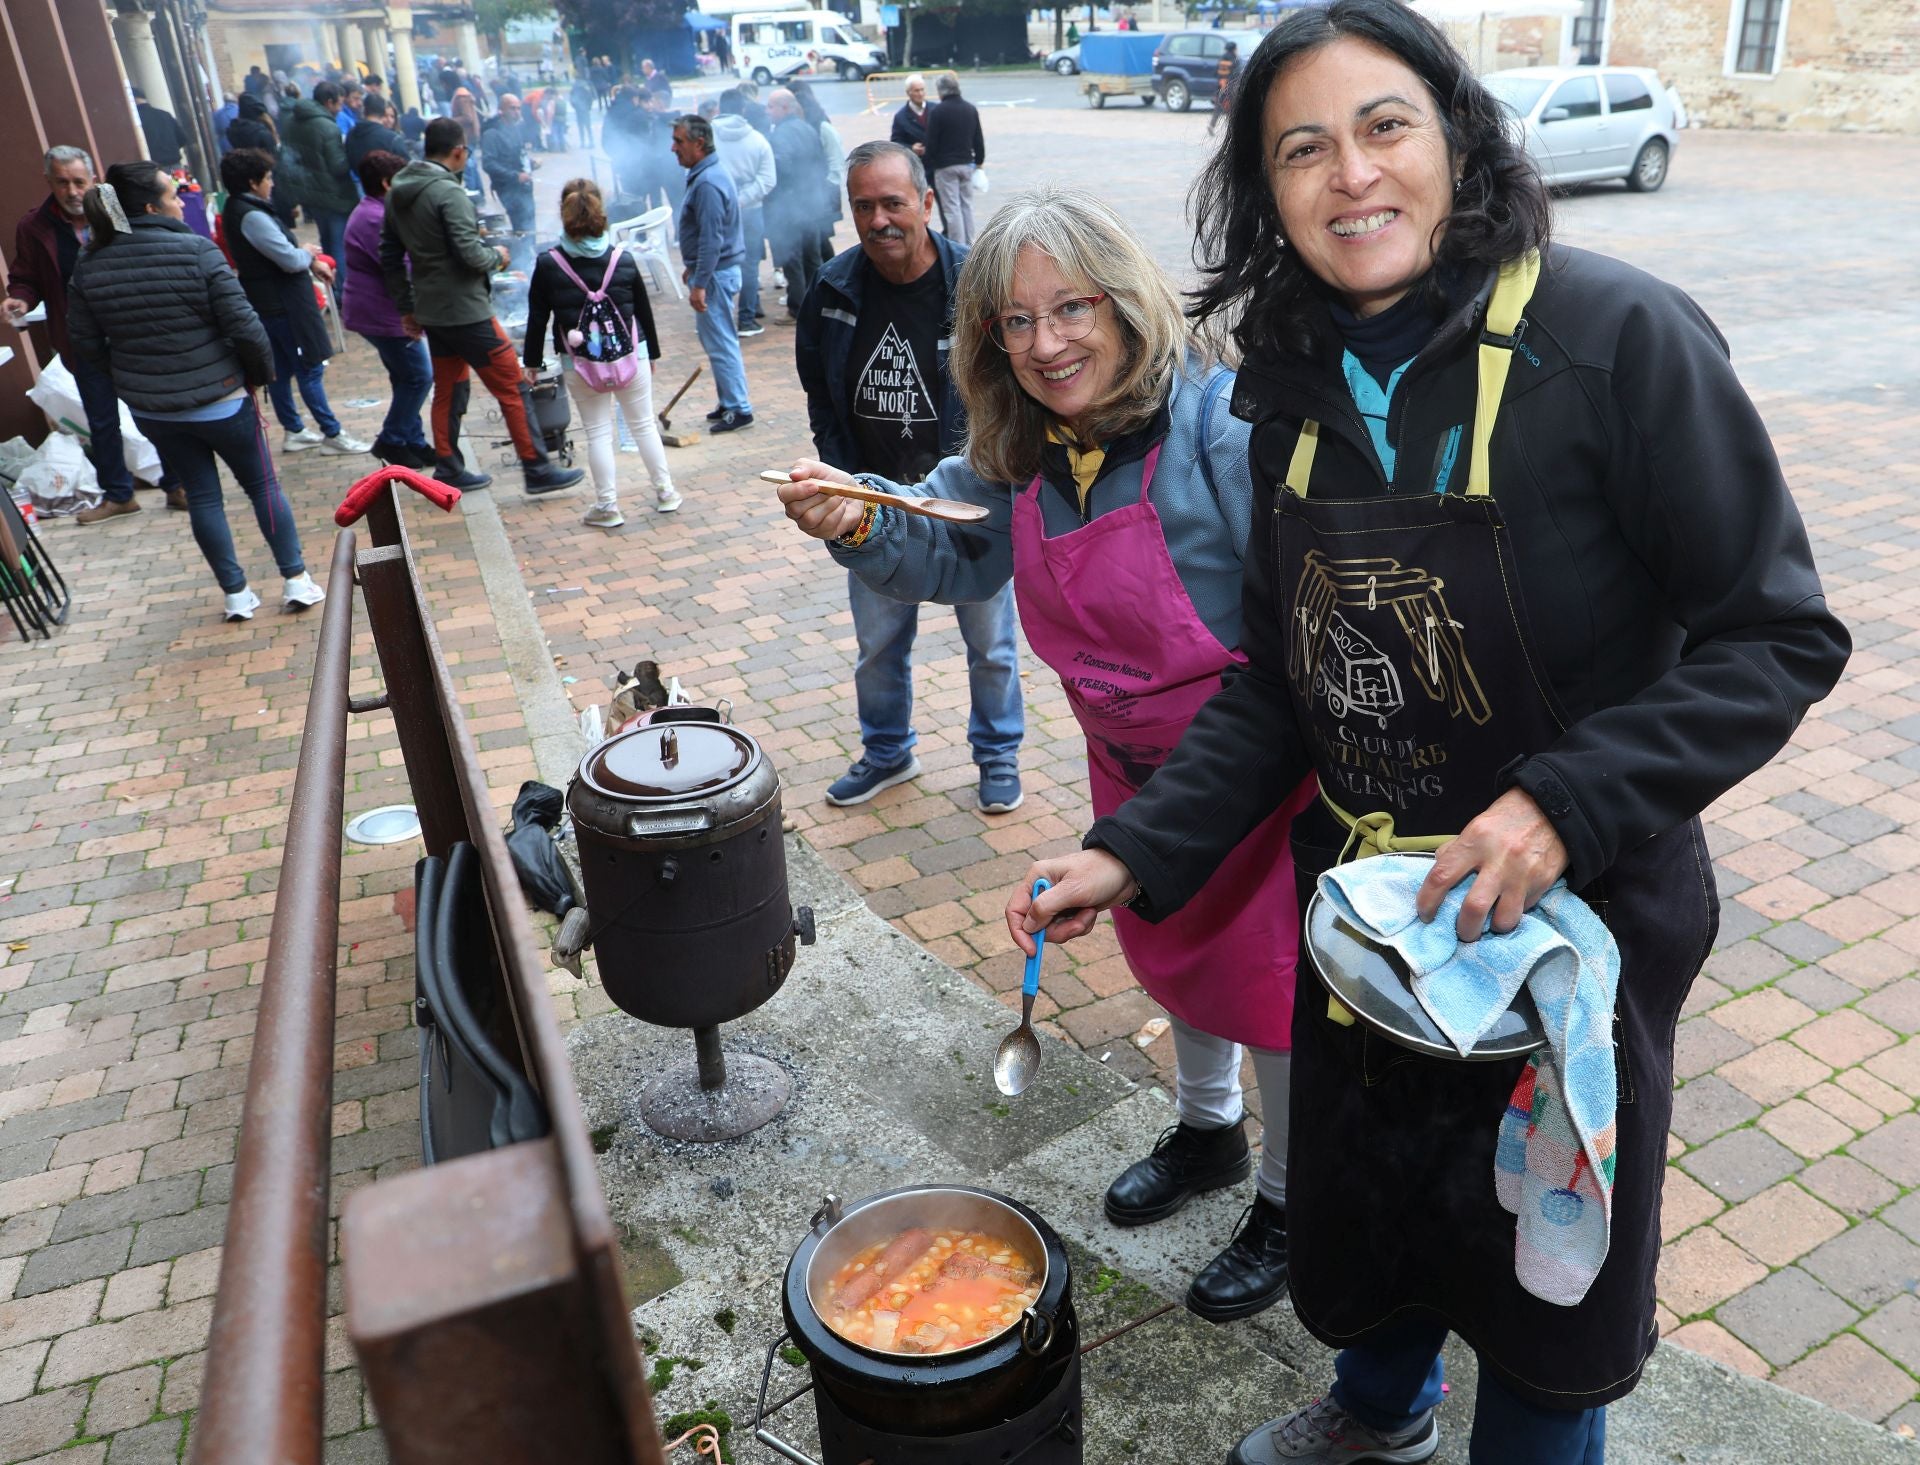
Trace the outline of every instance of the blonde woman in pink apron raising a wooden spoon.
{"type": "MultiPolygon", "coordinates": [[[[950,371],[968,453],[916,493],[989,509],[954,526],[828,497],[847,482],[803,459],[787,513],[902,601],[966,603],[1012,578],[1035,655],[1087,735],[1092,806],[1135,795],[1223,674],[1242,662],[1246,426],[1233,374],[1188,351],[1179,298],[1127,227],[1085,194],[1012,200],[981,232],[954,300],[950,371]],[[1014,388],[1014,390],[1010,390],[1014,388]]],[[[879,488],[879,480],[866,478],[879,488]]],[[[1298,904],[1288,826],[1308,780],[1175,918],[1116,910],[1121,950],[1173,1021],[1179,1123],[1106,1192],[1144,1225],[1252,1171],[1240,1093],[1252,1050],[1265,1117],[1254,1202],[1194,1277],[1188,1306],[1225,1321],[1286,1290],[1286,1114],[1298,904]]]]}

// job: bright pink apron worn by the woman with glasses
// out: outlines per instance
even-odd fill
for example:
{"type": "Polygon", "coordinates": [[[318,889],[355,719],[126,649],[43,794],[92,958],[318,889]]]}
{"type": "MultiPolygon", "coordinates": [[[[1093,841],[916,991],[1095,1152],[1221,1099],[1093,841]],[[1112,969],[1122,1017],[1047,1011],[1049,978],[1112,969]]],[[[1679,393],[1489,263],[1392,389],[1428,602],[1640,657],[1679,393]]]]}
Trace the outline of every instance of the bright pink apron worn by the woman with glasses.
{"type": "MultiPolygon", "coordinates": [[[[1167,758],[1221,672],[1244,662],[1194,611],[1160,515],[1146,499],[1048,540],[1041,480],[1014,501],[1014,595],[1035,655],[1060,674],[1087,733],[1094,816],[1112,814],[1167,758]]],[[[1127,966],[1190,1027],[1256,1048],[1290,1048],[1300,906],[1288,826],[1313,799],[1308,778],[1227,856],[1175,916],[1152,925],[1114,912],[1127,966]]]]}

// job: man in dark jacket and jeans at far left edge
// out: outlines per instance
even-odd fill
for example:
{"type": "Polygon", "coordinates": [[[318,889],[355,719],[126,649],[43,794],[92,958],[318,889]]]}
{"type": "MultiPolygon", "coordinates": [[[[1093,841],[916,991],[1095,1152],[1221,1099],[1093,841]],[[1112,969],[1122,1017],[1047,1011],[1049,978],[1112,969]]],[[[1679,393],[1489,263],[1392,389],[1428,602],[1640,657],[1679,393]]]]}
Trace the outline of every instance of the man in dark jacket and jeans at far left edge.
{"type": "MultiPolygon", "coordinates": [[[[81,198],[94,184],[94,159],[83,148],[50,148],[44,161],[46,198],[13,230],[13,263],[8,267],[8,292],[0,300],[0,315],[19,326],[27,311],[46,305],[46,336],[73,372],[73,390],[86,415],[86,457],[94,465],[104,495],[100,503],[81,509],[73,518],[81,524],[98,524],[102,518],[136,515],[140,505],[132,497],[132,472],[127,470],[113,378],[83,361],[67,342],[67,282],[86,242],[81,198]]],[[[173,474],[163,474],[159,486],[167,490],[169,509],[186,507],[186,493],[173,474]]]]}

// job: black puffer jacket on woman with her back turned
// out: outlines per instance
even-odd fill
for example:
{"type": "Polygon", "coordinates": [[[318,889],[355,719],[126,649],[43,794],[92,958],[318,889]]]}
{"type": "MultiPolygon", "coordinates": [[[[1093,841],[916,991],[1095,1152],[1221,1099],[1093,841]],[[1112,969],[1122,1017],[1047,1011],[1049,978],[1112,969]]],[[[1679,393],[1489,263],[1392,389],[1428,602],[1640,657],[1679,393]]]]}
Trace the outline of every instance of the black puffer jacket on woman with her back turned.
{"type": "Polygon", "coordinates": [[[273,346],[227,255],[157,213],[81,255],[67,334],[136,413],[184,413],[273,380],[273,346]]]}

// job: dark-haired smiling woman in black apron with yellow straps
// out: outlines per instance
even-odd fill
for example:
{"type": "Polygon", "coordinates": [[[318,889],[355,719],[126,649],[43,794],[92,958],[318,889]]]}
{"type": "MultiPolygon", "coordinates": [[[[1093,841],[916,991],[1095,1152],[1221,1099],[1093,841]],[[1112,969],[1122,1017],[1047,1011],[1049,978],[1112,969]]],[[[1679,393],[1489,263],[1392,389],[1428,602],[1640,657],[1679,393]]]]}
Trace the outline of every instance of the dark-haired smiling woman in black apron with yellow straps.
{"type": "Polygon", "coordinates": [[[1524,1058],[1417,1054],[1302,979],[1292,1290],[1340,1354],[1327,1400],[1231,1461],[1428,1459],[1453,1331],[1476,1465],[1597,1465],[1657,1342],[1672,1031],[1718,922],[1697,816],[1786,745],[1847,634],[1718,332],[1548,246],[1498,104],[1398,0],[1273,31],[1196,204],[1196,313],[1233,326],[1254,424],[1248,664],[1008,922],[1027,945],[1179,910],[1309,768],[1302,906],[1346,858],[1438,851],[1417,914],[1473,876],[1475,941],[1565,879],[1620,958],[1603,1263],[1572,1306],[1515,1277],[1494,1146],[1524,1058]]]}

